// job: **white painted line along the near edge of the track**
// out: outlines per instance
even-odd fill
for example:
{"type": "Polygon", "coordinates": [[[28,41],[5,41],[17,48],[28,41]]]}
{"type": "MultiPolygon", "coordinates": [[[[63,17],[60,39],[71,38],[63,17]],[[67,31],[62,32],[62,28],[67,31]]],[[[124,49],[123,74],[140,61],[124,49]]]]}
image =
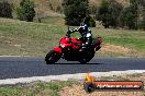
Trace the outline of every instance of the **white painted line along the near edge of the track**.
{"type": "MultiPolygon", "coordinates": [[[[125,74],[144,73],[144,72],[145,70],[127,70],[127,71],[110,71],[110,72],[91,72],[90,74],[96,77],[100,77],[100,76],[125,75],[125,74]]],[[[13,85],[18,83],[31,83],[36,81],[49,82],[53,80],[67,81],[69,79],[83,80],[85,76],[86,73],[76,73],[76,74],[7,79],[7,80],[0,80],[0,85],[7,85],[7,84],[13,85]]]]}

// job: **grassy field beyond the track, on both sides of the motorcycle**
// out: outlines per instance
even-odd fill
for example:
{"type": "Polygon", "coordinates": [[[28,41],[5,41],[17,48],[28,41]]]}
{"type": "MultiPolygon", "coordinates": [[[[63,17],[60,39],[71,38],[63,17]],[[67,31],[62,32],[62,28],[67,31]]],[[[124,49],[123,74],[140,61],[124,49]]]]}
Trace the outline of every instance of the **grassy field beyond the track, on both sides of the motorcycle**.
{"type": "MultiPolygon", "coordinates": [[[[67,26],[60,17],[43,19],[42,23],[27,23],[18,20],[0,19],[0,56],[44,57],[65,36],[67,26]]],[[[101,57],[145,57],[145,32],[127,29],[92,28],[94,37],[100,36],[104,44],[129,48],[109,47],[98,51],[101,57]],[[112,51],[109,51],[112,49],[112,51]],[[113,51],[118,50],[118,51],[113,51]]],[[[78,36],[78,35],[75,35],[78,36]]],[[[103,48],[103,46],[102,46],[103,48]]]]}

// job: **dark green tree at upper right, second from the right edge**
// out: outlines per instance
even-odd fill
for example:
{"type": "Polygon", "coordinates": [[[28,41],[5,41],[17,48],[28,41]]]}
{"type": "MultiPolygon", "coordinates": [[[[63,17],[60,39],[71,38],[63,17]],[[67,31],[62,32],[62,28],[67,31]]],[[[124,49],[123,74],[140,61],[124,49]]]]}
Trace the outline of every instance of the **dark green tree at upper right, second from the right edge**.
{"type": "Polygon", "coordinates": [[[122,9],[123,7],[115,0],[102,0],[97,20],[101,21],[105,28],[109,26],[116,27],[120,24],[119,19],[122,9]]]}

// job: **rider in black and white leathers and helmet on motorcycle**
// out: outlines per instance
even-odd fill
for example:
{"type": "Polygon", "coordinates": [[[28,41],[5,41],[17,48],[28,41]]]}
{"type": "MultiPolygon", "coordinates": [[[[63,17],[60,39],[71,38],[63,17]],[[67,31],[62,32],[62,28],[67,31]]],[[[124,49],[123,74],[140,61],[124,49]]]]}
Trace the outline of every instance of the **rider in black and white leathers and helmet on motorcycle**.
{"type": "Polygon", "coordinates": [[[80,46],[79,51],[83,51],[86,48],[88,48],[92,44],[92,34],[91,31],[88,28],[88,25],[85,23],[81,23],[78,28],[74,28],[70,31],[70,33],[79,32],[81,35],[81,38],[79,38],[82,41],[82,45],[80,46]]]}

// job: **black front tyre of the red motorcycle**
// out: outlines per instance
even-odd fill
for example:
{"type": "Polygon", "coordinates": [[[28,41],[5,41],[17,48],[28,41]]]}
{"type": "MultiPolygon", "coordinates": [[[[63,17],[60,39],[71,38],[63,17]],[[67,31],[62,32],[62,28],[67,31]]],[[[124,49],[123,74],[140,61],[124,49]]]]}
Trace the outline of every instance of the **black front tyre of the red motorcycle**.
{"type": "Polygon", "coordinates": [[[59,59],[60,59],[60,55],[54,50],[51,50],[45,57],[46,64],[55,63],[59,59]]]}

